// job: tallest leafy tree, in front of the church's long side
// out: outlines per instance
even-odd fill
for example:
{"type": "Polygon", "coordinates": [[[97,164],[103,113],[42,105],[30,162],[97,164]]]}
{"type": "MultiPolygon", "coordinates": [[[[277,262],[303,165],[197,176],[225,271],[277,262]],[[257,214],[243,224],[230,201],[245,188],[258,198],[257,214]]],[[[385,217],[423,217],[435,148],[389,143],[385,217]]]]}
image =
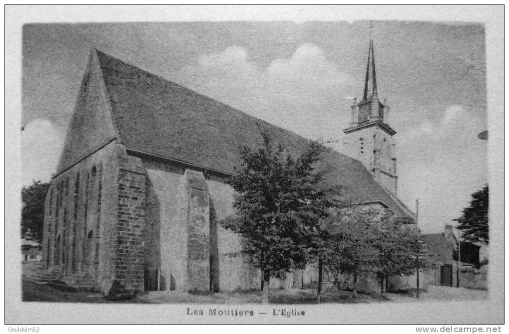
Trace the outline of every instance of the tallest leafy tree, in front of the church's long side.
{"type": "Polygon", "coordinates": [[[228,181],[238,193],[236,216],[221,224],[243,236],[243,252],[261,270],[262,303],[267,304],[270,277],[284,279],[309,261],[318,222],[333,199],[320,188],[323,173],[315,169],[324,150],[321,144],[310,142],[294,158],[262,136],[261,148],[241,149],[242,164],[228,181]]]}

